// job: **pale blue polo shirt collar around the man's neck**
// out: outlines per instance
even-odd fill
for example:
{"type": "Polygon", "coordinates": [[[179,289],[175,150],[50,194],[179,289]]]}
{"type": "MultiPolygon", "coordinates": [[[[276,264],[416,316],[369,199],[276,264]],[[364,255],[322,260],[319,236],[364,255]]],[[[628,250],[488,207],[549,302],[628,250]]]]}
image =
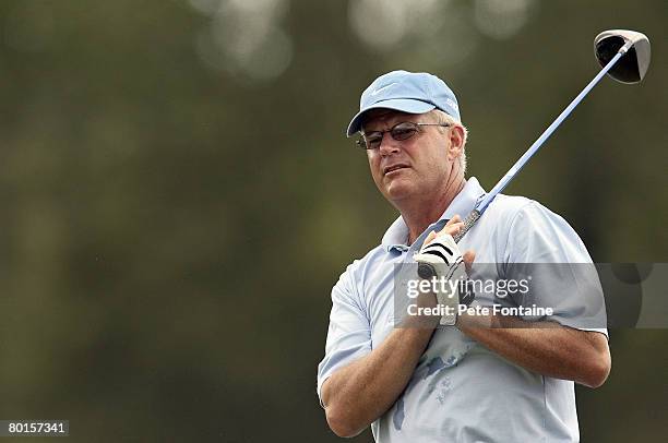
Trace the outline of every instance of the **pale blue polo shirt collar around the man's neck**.
{"type": "MultiPolygon", "coordinates": [[[[485,190],[480,187],[478,179],[475,177],[469,178],[464,185],[464,189],[454,197],[450,205],[445,208],[445,212],[441,215],[438,222],[450,219],[456,214],[460,217],[465,218],[478,203],[478,200],[485,195],[485,190]]],[[[438,223],[436,222],[436,223],[438,223]]],[[[394,223],[387,228],[383,236],[382,244],[390,252],[392,249],[398,249],[406,251],[408,246],[408,226],[404,223],[404,218],[399,216],[394,223]]]]}

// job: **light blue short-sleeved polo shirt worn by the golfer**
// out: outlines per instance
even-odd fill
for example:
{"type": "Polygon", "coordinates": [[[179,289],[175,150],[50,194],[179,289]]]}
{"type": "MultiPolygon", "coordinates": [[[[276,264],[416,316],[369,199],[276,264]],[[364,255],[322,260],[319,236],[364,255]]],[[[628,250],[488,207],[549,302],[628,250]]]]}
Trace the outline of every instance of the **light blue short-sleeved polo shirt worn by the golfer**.
{"type": "MultiPolygon", "coordinates": [[[[411,246],[397,218],[382,243],[354,261],[332,289],[325,356],[318,367],[318,395],[337,369],[378,347],[394,327],[394,272],[414,263],[426,236],[458,214],[465,217],[485,191],[475,178],[443,216],[411,246]]],[[[515,263],[592,263],[569,224],[539,203],[499,195],[461,240],[476,263],[496,263],[503,278],[515,263]]],[[[553,306],[556,321],[581,330],[605,330],[605,302],[597,277],[561,278],[563,285],[589,287],[584,302],[568,286],[536,291],[553,306]],[[601,316],[603,315],[603,316],[601,316]],[[603,320],[601,320],[603,319],[603,320]]],[[[528,320],[528,319],[527,319],[528,320]]],[[[574,383],[525,370],[468,338],[456,327],[439,328],[397,402],[371,424],[379,443],[395,442],[577,442],[574,383]]]]}

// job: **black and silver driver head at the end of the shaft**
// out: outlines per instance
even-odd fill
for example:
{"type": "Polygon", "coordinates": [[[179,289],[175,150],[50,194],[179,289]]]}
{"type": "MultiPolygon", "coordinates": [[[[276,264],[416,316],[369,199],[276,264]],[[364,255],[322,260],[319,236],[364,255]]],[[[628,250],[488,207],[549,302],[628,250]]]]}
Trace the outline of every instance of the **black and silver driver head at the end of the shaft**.
{"type": "Polygon", "coordinates": [[[631,44],[631,48],[608,71],[608,75],[622,83],[639,83],[649,67],[649,39],[635,31],[610,29],[598,34],[594,39],[596,59],[605,67],[619,49],[631,44]]]}

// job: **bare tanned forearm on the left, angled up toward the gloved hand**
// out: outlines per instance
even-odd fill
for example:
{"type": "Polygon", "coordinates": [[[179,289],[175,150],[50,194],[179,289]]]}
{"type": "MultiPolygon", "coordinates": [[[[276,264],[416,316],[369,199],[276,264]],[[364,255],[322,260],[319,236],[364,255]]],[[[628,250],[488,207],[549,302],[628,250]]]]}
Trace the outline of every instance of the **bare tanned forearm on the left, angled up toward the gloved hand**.
{"type": "Polygon", "coordinates": [[[330,428],[339,436],[363,431],[404,391],[433,328],[395,328],[371,354],[339,369],[322,386],[330,428]]]}

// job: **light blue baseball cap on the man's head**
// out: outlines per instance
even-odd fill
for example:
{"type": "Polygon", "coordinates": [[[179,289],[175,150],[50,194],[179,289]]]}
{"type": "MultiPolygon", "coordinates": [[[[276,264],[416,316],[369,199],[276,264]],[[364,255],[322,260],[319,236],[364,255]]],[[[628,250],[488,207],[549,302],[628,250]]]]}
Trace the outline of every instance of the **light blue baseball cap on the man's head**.
{"type": "Polygon", "coordinates": [[[347,135],[361,130],[365,113],[385,108],[408,113],[425,113],[440,109],[457,121],[457,98],[445,82],[426,72],[392,71],[375,79],[359,100],[359,112],[348,124],[347,135]]]}

